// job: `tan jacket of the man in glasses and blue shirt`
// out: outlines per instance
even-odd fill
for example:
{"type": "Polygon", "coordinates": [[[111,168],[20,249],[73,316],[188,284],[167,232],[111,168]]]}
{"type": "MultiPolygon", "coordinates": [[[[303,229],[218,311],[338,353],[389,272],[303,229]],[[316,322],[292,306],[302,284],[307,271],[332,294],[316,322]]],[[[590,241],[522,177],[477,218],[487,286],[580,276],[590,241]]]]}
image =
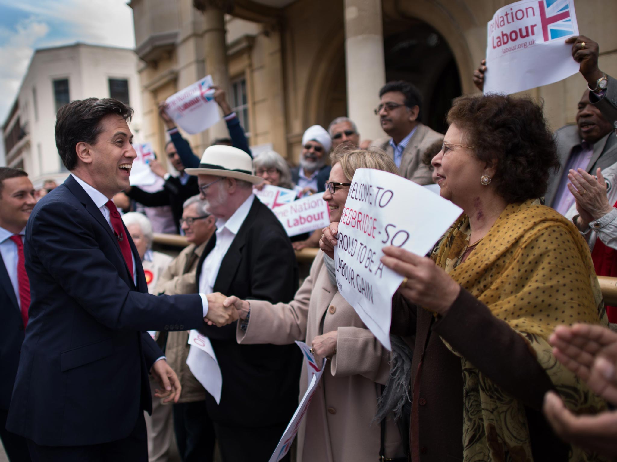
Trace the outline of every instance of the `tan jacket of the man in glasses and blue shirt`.
{"type": "MultiPolygon", "coordinates": [[[[375,140],[371,146],[384,150],[394,160],[394,148],[390,145],[391,137],[375,140]]],[[[408,180],[421,185],[433,184],[433,177],[428,166],[422,163],[422,156],[431,145],[437,141],[442,142],[444,136],[424,125],[418,123],[416,131],[409,139],[403,157],[400,160],[400,174],[408,180]]]]}

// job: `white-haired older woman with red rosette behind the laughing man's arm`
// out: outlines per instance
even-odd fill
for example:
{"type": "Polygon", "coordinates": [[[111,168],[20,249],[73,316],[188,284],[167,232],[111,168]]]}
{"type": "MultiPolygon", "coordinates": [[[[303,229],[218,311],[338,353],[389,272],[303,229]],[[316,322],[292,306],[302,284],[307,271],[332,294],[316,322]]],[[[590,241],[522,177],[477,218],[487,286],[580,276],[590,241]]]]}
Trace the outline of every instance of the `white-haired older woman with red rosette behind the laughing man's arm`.
{"type": "MultiPolygon", "coordinates": [[[[173,258],[164,253],[152,251],[152,224],[143,214],[138,212],[125,213],[122,220],[128,233],[135,243],[135,248],[144,267],[144,275],[148,285],[148,292],[156,294],[157,280],[163,274],[173,258]]],[[[158,333],[152,332],[156,338],[158,333]]],[[[154,389],[159,384],[150,378],[150,388],[154,396],[154,389]]],[[[172,406],[164,405],[161,400],[152,400],[152,415],[144,413],[148,435],[149,460],[167,460],[169,447],[172,442],[173,422],[172,406]]]]}

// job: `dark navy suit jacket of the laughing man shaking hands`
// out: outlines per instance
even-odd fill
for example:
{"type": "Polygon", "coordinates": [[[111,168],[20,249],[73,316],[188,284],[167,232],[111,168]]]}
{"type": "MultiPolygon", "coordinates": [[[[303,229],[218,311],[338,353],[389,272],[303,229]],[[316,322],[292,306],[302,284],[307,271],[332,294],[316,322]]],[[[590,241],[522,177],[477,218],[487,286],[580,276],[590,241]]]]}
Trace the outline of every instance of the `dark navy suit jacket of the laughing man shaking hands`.
{"type": "Polygon", "coordinates": [[[162,352],[146,330],[196,329],[198,294],[147,294],[137,286],[101,211],[69,176],[39,201],[26,227],[29,320],[7,429],[46,446],[128,436],[151,411],[148,371],[162,352]]]}

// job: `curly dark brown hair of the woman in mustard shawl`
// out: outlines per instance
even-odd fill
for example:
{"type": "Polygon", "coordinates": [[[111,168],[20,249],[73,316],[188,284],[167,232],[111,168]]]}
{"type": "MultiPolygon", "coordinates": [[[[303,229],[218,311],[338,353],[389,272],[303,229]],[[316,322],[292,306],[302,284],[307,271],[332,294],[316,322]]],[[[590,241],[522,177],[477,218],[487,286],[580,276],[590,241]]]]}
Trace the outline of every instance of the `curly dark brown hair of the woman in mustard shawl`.
{"type": "Polygon", "coordinates": [[[448,112],[474,155],[495,165],[495,192],[508,203],[544,197],[549,170],[559,168],[542,107],[529,97],[487,94],[462,97],[448,112]]]}

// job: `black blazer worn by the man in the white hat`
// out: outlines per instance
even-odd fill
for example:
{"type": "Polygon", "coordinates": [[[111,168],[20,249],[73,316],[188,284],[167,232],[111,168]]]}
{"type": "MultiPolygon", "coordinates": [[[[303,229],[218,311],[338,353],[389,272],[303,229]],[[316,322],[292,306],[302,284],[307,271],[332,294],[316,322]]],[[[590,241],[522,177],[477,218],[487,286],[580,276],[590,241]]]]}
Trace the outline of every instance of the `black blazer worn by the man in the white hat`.
{"type": "MultiPolygon", "coordinates": [[[[205,257],[197,264],[197,282],[205,257]]],[[[241,299],[288,302],[298,288],[298,266],[283,225],[257,198],[218,270],[214,291],[241,299]]],[[[223,375],[220,405],[206,395],[210,418],[242,428],[289,423],[298,403],[302,355],[296,345],[239,345],[236,325],[201,329],[212,342],[223,375]]],[[[241,440],[239,441],[241,444],[241,440]]]]}

